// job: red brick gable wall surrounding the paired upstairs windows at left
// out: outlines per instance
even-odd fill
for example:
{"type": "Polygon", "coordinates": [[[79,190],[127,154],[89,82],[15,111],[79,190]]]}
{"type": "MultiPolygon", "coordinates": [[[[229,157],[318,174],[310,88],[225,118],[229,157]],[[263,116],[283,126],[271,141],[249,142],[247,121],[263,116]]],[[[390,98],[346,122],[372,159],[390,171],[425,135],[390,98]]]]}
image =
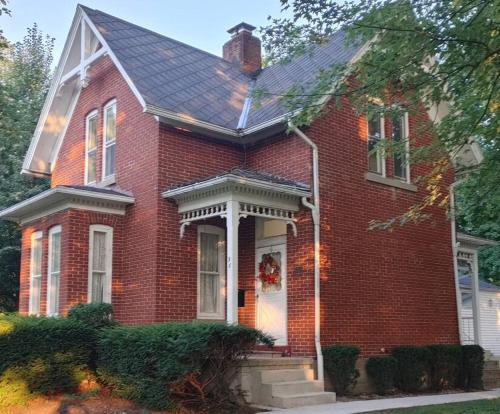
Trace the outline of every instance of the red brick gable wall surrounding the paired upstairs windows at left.
{"type": "Polygon", "coordinates": [[[119,255],[123,256],[123,286],[127,300],[117,313],[128,323],[152,322],[155,302],[158,232],[158,122],[144,114],[142,106],[109,58],[90,71],[89,86],[82,90],[71,118],[52,186],[83,184],[85,160],[85,117],[98,110],[97,177],[101,177],[103,108],[116,99],[116,187],[130,191],[134,205],[127,208],[127,229],[119,255]]]}

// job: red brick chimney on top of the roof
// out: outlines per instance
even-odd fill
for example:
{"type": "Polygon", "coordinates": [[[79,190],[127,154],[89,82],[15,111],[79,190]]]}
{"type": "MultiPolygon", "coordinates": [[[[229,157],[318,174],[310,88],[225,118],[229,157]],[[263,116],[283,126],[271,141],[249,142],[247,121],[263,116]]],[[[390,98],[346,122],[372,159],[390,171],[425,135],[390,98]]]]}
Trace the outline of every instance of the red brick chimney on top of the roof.
{"type": "Polygon", "coordinates": [[[260,39],[252,35],[253,30],[255,27],[250,24],[237,24],[227,31],[231,39],[222,48],[224,59],[239,63],[245,73],[259,71],[262,64],[260,39]]]}

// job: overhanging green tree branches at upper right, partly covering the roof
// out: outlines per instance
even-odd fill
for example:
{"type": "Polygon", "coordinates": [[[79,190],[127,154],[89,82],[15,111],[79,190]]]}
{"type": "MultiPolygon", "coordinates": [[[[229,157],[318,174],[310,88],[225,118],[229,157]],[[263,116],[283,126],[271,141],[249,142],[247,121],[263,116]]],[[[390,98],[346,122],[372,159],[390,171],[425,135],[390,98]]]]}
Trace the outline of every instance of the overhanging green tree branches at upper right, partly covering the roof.
{"type": "MultiPolygon", "coordinates": [[[[426,109],[442,103],[449,106],[439,122],[413,117],[416,124],[409,138],[419,147],[412,145],[411,163],[431,169],[429,173],[421,169],[421,175],[413,174],[412,180],[424,184],[427,194],[397,217],[375,221],[376,228],[419,222],[432,216],[433,206],[448,207],[443,182],[452,168],[448,154],[471,137],[498,150],[498,0],[281,0],[281,4],[283,17],[271,19],[263,28],[271,62],[307,53],[339,29],[347,33],[351,45],[370,42],[355,62],[326,68],[317,74],[313,85],[294,85],[282,96],[294,113],[295,125],[309,125],[321,115],[318,99],[325,97],[332,97],[337,104],[348,98],[359,113],[384,113],[386,119],[405,108],[412,116],[422,105],[426,109]],[[346,81],[352,75],[355,82],[346,81]],[[387,106],[374,105],[374,101],[387,106]],[[437,139],[422,143],[419,139],[424,132],[437,139]]],[[[265,91],[260,94],[266,96],[265,91]]],[[[389,146],[390,155],[394,148],[390,140],[385,141],[381,145],[389,146]]],[[[398,151],[401,149],[394,153],[398,151]]],[[[461,172],[468,169],[466,165],[456,167],[461,172]]],[[[498,164],[487,163],[478,174],[486,178],[480,180],[480,191],[498,195],[498,164]]],[[[469,202],[479,205],[482,200],[472,197],[469,202]]],[[[496,214],[498,205],[491,204],[496,214]]]]}

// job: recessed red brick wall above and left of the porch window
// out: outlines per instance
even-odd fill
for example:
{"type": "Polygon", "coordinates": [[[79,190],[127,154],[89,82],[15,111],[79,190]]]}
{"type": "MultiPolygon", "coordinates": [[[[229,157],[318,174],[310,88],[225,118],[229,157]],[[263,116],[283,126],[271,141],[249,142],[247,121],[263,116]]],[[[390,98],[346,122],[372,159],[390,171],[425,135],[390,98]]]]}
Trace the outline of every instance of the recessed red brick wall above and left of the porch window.
{"type": "MultiPolygon", "coordinates": [[[[242,154],[234,147],[214,144],[162,126],[159,156],[156,320],[195,319],[197,226],[188,226],[184,238],[180,239],[177,205],[162,199],[160,192],[172,185],[205,178],[238,166],[242,154]]],[[[222,220],[211,224],[225,228],[222,220]]]]}

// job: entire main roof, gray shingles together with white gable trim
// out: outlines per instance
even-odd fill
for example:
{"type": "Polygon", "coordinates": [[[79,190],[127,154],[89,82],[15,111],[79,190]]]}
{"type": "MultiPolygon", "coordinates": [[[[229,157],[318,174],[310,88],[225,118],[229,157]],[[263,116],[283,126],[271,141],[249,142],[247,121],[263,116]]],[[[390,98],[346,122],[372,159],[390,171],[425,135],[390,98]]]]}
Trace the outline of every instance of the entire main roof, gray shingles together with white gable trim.
{"type": "Polygon", "coordinates": [[[89,82],[87,70],[105,55],[145,112],[162,122],[245,143],[246,136],[265,137],[284,128],[280,94],[294,83],[312,82],[319,69],[350,61],[358,50],[346,48],[343,34],[336,34],[312,54],[251,78],[221,57],[79,5],[23,172],[50,174],[80,91],[89,82]],[[267,88],[275,97],[257,107],[252,104],[253,87],[267,88]]]}

